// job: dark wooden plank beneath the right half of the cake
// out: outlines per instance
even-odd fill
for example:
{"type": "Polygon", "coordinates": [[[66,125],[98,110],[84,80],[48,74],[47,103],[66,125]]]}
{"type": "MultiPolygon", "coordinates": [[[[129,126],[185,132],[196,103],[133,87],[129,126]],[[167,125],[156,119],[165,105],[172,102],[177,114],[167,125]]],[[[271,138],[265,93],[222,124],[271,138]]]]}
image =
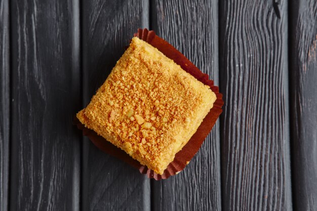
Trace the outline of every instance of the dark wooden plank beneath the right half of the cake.
{"type": "MultiPolygon", "coordinates": [[[[218,1],[155,1],[152,26],[218,84],[218,1]]],[[[219,125],[188,166],[152,182],[153,210],[221,210],[219,125]]]]}

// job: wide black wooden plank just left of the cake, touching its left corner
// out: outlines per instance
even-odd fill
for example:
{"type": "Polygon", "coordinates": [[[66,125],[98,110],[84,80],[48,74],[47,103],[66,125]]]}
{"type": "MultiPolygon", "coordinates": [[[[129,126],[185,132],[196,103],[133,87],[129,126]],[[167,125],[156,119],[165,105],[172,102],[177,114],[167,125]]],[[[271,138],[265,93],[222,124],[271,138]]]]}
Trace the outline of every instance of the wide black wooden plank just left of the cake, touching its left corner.
{"type": "Polygon", "coordinates": [[[11,1],[10,210],[78,210],[78,1],[11,1]]]}

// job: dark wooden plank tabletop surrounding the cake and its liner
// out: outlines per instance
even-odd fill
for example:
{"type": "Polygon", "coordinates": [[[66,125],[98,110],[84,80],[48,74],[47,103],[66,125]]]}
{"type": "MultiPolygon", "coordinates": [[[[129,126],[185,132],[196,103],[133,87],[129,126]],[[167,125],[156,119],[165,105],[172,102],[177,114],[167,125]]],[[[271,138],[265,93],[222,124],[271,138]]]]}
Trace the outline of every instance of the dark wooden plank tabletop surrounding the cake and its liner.
{"type": "Polygon", "coordinates": [[[317,210],[317,1],[0,0],[0,210],[317,210]],[[72,125],[137,28],[223,93],[154,181],[72,125]]]}

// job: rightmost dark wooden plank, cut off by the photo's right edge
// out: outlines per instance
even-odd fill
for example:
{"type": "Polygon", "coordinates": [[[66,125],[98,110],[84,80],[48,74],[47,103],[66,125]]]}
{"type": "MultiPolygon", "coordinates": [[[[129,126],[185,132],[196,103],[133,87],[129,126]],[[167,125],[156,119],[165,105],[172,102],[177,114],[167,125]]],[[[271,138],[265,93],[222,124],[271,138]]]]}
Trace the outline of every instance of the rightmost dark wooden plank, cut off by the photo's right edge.
{"type": "Polygon", "coordinates": [[[295,210],[317,207],[317,2],[291,1],[290,107],[295,210]]]}

